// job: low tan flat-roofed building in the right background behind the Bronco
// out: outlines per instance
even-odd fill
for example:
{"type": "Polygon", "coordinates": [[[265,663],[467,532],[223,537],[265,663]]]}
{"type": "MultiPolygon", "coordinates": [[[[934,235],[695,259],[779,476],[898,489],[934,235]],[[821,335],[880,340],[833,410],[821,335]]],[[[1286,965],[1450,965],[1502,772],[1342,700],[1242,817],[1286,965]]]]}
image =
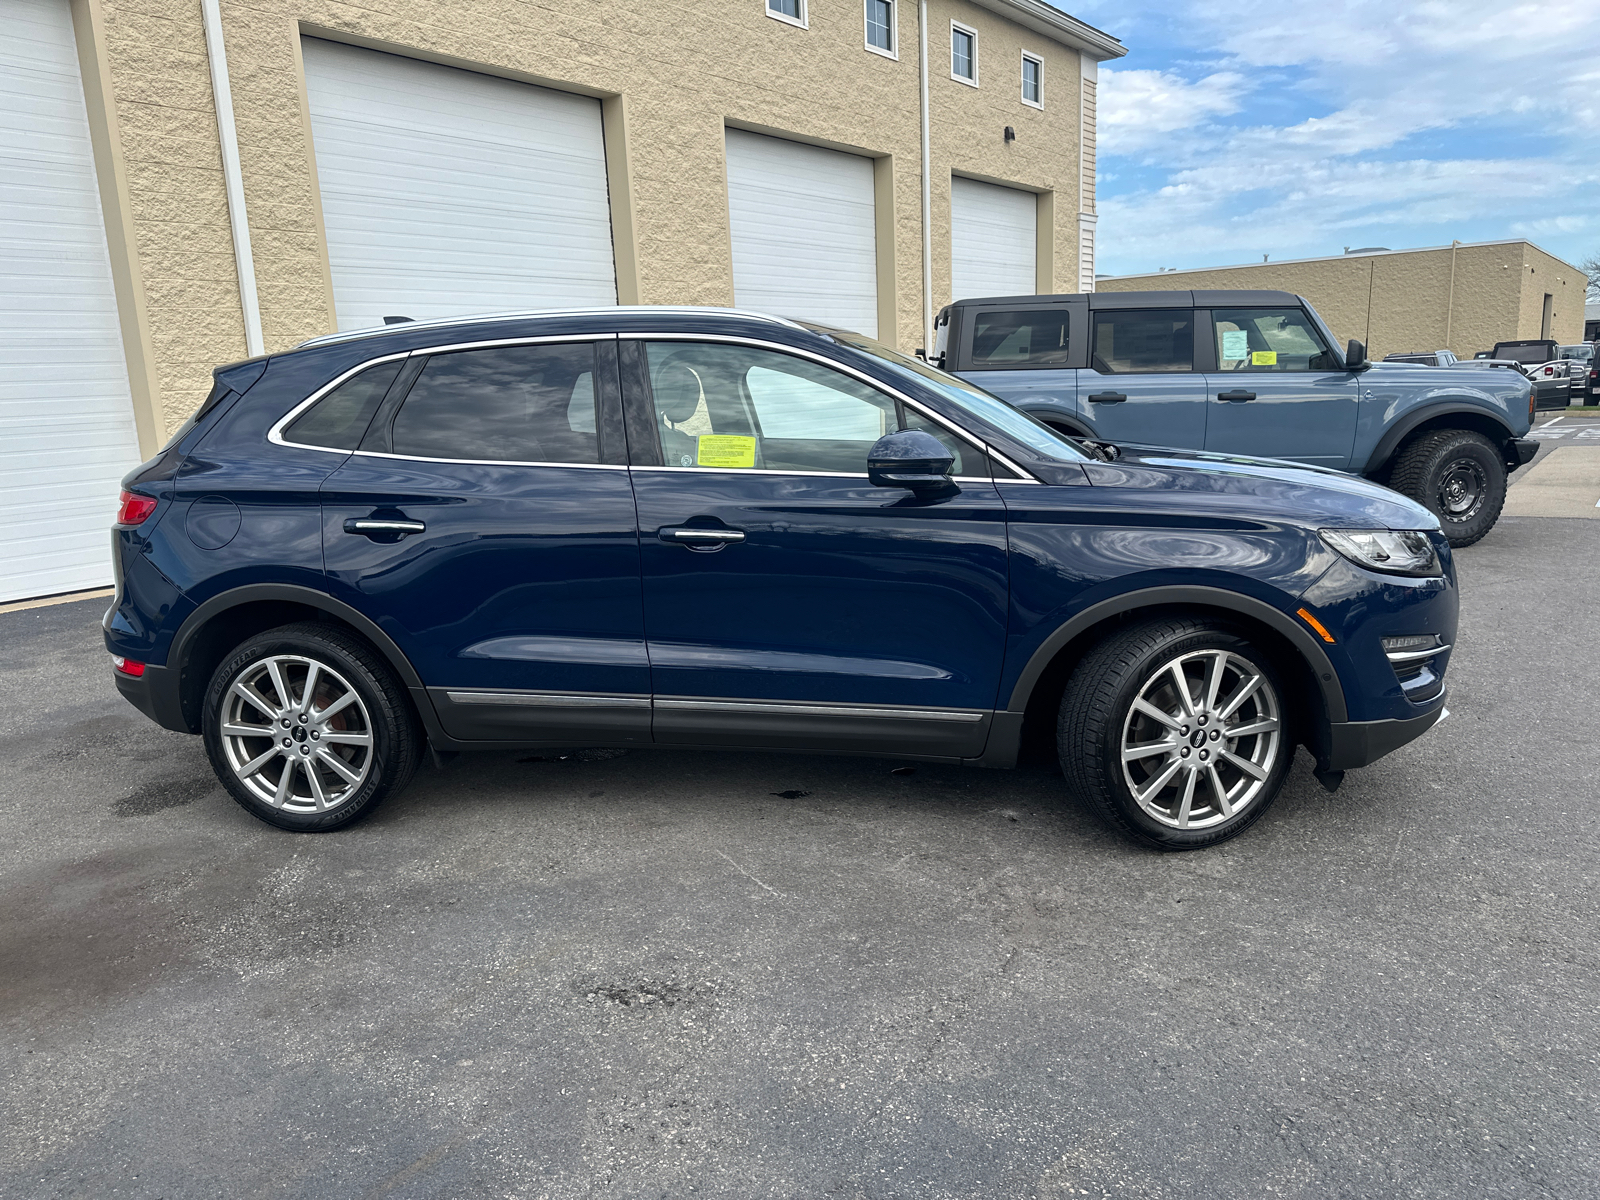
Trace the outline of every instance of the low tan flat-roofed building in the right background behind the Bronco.
{"type": "Polygon", "coordinates": [[[1101,278],[1101,291],[1277,288],[1309,299],[1374,358],[1448,349],[1470,358],[1498,341],[1579,341],[1587,277],[1531,242],[1456,242],[1208,270],[1101,278]]]}

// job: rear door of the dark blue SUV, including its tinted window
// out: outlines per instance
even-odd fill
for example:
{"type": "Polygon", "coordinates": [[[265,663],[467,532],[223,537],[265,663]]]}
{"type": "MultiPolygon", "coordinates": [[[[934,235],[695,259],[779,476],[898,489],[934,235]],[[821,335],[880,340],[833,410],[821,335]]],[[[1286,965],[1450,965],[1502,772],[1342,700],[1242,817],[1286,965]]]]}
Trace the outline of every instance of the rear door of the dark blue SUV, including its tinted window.
{"type": "Polygon", "coordinates": [[[616,341],[435,354],[322,488],[331,590],[464,741],[650,739],[616,341]]]}

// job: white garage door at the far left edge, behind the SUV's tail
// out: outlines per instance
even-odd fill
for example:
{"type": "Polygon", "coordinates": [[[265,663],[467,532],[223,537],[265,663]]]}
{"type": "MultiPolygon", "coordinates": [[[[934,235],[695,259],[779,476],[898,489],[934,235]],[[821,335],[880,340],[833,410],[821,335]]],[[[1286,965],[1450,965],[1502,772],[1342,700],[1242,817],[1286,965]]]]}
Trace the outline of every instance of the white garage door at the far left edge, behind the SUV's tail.
{"type": "Polygon", "coordinates": [[[110,582],[139,462],[67,0],[0,0],[0,600],[110,582]]]}

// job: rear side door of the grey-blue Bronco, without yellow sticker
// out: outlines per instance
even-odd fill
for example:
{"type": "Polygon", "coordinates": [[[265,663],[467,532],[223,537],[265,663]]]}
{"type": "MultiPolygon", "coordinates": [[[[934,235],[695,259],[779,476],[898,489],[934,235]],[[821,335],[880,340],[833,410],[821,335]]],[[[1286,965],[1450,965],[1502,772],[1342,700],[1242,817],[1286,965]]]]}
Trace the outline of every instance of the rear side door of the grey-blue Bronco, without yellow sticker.
{"type": "Polygon", "coordinates": [[[1195,371],[1189,309],[1099,309],[1078,411],[1107,442],[1200,450],[1205,376],[1195,371]]]}

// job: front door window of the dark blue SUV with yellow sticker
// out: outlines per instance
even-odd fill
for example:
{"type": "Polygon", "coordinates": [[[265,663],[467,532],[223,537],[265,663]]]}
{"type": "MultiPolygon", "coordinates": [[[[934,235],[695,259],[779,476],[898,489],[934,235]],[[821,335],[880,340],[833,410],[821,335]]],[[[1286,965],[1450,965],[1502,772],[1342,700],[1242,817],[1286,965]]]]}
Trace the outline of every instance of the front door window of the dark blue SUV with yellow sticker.
{"type": "Polygon", "coordinates": [[[669,467],[864,475],[880,437],[926,429],[950,448],[954,474],[987,474],[974,446],[808,358],[694,342],[650,342],[646,357],[669,467]]]}

